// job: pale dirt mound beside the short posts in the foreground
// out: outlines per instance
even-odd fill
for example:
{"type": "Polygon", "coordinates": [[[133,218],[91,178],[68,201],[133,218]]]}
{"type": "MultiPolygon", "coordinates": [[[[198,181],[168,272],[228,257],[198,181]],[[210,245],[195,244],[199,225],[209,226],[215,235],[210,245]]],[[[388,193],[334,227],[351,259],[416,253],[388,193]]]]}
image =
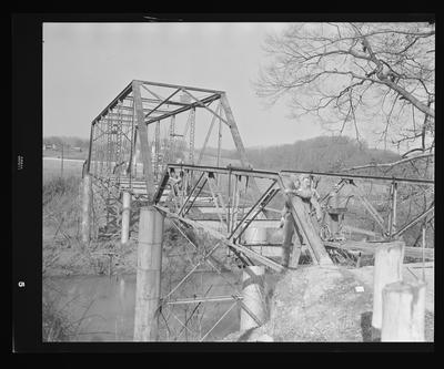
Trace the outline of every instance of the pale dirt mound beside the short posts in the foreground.
{"type": "MultiPolygon", "coordinates": [[[[262,335],[274,342],[377,341],[371,327],[372,269],[302,266],[287,271],[274,289],[269,321],[256,331],[240,331],[224,341],[254,341],[262,335]]],[[[425,340],[434,341],[434,312],[428,309],[425,340]]]]}

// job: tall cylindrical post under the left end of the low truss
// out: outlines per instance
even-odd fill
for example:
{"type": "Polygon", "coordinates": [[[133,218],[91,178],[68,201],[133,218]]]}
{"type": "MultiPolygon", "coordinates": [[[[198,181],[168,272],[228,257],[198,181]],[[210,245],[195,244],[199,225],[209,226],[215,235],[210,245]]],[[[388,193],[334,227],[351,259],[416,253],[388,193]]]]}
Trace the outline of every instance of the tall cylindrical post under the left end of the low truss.
{"type": "Polygon", "coordinates": [[[155,207],[140,209],[134,341],[158,340],[163,223],[155,207]]]}

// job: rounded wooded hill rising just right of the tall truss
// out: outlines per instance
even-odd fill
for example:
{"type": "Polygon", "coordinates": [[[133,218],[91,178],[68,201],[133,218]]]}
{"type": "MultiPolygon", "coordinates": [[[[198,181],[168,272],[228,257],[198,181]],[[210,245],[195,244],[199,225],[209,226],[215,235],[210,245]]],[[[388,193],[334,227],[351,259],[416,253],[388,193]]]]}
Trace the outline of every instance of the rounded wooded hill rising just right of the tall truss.
{"type": "MultiPolygon", "coordinates": [[[[206,152],[215,155],[216,150],[206,152]]],[[[222,151],[222,156],[236,158],[235,151],[222,151]]],[[[337,172],[342,168],[369,163],[390,163],[400,160],[391,151],[369,148],[365,143],[339,136],[319,136],[293,144],[246,148],[246,156],[258,170],[301,170],[337,172]]]]}

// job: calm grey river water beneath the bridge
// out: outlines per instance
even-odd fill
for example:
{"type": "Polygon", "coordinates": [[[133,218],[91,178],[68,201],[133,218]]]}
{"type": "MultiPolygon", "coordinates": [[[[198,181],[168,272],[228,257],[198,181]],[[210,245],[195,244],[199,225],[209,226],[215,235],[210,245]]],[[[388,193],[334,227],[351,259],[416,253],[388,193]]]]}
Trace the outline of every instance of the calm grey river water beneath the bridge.
{"type": "MultiPolygon", "coordinates": [[[[199,288],[188,289],[186,293],[185,289],[182,291],[178,289],[184,294],[182,297],[192,297],[192,293],[201,296],[205,291],[208,296],[231,295],[235,293],[233,286],[240,290],[240,275],[232,273],[224,274],[223,278],[214,273],[195,273],[190,278],[192,279],[188,284],[199,286],[199,288]]],[[[268,279],[270,278],[265,280],[268,279]]],[[[271,285],[266,283],[265,285],[269,290],[271,285]]],[[[63,311],[70,321],[75,322],[73,340],[132,341],[135,275],[47,277],[43,283],[43,296],[52,296],[57,309],[63,311]]],[[[194,314],[192,312],[196,304],[169,306],[159,319],[160,340],[199,340],[232,305],[233,301],[201,304],[194,314]],[[190,319],[188,327],[191,329],[188,330],[179,320],[183,322],[190,316],[194,319],[190,319]]],[[[238,331],[239,327],[240,308],[234,306],[204,340],[222,339],[238,331]]]]}

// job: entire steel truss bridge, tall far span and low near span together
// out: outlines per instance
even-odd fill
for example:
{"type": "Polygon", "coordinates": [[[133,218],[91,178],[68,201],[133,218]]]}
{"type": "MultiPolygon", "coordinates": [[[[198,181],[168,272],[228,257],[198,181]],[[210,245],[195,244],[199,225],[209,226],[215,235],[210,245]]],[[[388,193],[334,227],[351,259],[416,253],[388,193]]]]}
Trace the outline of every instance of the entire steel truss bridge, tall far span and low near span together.
{"type": "MultiPolygon", "coordinates": [[[[93,178],[93,237],[119,234],[123,192],[132,195],[133,239],[144,205],[181,237],[163,247],[164,340],[219,339],[239,308],[259,320],[242,303],[244,266],[273,274],[301,263],[359,264],[374,243],[417,233],[434,217],[433,181],[253,170],[225,92],[165,83],[132,81],[92,121],[83,174],[93,178]],[[223,155],[228,141],[235,158],[223,155]],[[321,221],[285,193],[294,174],[315,180],[321,221]]],[[[423,255],[408,244],[405,254],[423,255]]]]}

